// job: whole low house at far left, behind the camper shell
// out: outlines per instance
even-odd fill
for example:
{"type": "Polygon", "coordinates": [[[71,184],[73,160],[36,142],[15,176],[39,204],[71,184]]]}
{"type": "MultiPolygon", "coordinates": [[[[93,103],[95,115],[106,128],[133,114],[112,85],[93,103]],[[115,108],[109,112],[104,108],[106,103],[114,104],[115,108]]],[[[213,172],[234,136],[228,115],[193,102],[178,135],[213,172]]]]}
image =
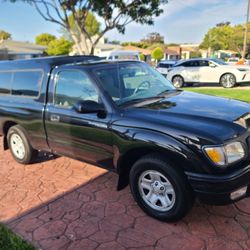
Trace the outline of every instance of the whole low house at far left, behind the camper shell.
{"type": "Polygon", "coordinates": [[[46,46],[13,40],[0,41],[0,60],[30,59],[44,55],[46,46]]]}

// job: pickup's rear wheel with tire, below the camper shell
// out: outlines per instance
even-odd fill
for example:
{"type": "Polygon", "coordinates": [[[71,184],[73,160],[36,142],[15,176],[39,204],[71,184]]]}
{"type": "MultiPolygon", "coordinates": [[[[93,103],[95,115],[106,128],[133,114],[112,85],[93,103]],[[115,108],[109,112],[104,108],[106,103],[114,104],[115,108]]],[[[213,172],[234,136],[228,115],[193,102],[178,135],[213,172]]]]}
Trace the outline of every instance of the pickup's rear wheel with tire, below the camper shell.
{"type": "Polygon", "coordinates": [[[13,126],[7,134],[7,141],[13,158],[22,164],[29,164],[37,155],[38,151],[30,145],[24,129],[19,126],[13,126]]]}

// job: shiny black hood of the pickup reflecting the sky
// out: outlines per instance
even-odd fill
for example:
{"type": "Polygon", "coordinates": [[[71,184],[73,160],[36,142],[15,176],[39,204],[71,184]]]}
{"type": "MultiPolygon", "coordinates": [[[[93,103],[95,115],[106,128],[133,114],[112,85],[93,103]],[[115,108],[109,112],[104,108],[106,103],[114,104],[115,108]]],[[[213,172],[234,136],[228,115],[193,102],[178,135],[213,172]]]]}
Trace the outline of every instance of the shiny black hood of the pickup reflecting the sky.
{"type": "Polygon", "coordinates": [[[177,91],[160,101],[137,104],[124,115],[136,120],[136,126],[219,143],[246,131],[233,121],[248,113],[250,104],[245,102],[177,91]]]}

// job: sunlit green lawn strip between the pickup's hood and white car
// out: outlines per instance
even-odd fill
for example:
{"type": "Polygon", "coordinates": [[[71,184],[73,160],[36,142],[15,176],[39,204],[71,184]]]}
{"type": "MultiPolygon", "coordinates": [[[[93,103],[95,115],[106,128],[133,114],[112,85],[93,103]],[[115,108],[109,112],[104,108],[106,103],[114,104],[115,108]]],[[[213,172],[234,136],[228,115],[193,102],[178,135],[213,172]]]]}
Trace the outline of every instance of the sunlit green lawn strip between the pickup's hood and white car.
{"type": "Polygon", "coordinates": [[[193,91],[200,94],[223,96],[250,102],[250,90],[245,89],[214,89],[214,88],[184,88],[186,91],[193,91]]]}

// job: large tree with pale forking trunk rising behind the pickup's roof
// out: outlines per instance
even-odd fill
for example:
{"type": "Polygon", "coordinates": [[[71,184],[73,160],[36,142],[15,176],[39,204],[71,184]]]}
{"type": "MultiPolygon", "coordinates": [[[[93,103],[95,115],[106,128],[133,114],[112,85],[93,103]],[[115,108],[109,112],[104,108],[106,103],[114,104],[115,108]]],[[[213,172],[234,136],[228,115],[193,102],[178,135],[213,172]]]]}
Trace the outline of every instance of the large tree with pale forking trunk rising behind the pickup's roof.
{"type": "MultiPolygon", "coordinates": [[[[17,2],[18,0],[9,0],[17,2]]],[[[74,41],[79,54],[93,54],[100,39],[110,30],[124,33],[131,22],[152,25],[154,17],[163,12],[168,0],[22,0],[32,4],[46,20],[66,29],[74,41]],[[89,13],[97,15],[103,27],[96,37],[87,30],[89,13]],[[72,16],[77,32],[70,24],[72,16]]]]}

